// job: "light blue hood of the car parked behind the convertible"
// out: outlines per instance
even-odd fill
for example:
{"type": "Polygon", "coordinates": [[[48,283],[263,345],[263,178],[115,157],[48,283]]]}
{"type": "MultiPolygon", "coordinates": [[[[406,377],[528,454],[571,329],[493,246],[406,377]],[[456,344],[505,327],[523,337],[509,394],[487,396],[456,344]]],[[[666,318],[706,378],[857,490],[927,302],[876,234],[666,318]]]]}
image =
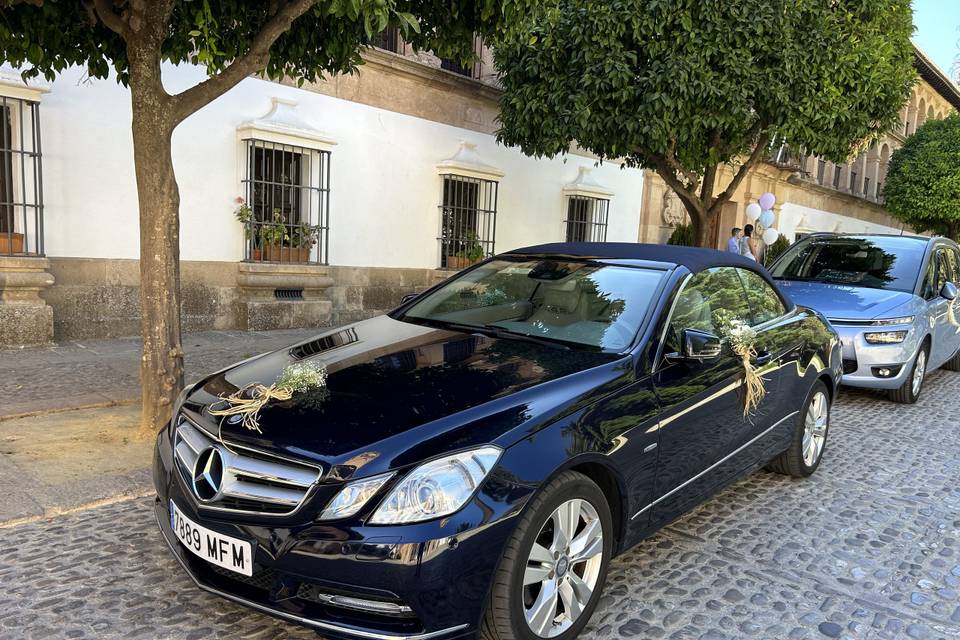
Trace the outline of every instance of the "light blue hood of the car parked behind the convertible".
{"type": "Polygon", "coordinates": [[[797,304],[816,309],[827,318],[870,320],[914,299],[912,293],[851,287],[798,280],[777,280],[780,289],[797,304]]]}

